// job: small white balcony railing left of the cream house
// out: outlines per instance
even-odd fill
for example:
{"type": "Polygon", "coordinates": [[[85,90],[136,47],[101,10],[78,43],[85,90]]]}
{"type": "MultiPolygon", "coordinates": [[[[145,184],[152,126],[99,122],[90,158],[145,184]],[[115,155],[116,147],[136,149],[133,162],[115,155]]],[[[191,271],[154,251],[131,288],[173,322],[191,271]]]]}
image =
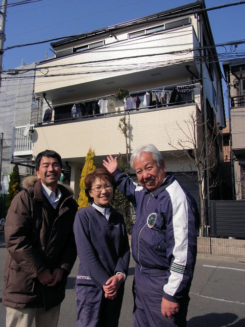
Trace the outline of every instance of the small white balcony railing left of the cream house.
{"type": "Polygon", "coordinates": [[[31,156],[33,149],[34,125],[13,127],[12,156],[31,156]]]}

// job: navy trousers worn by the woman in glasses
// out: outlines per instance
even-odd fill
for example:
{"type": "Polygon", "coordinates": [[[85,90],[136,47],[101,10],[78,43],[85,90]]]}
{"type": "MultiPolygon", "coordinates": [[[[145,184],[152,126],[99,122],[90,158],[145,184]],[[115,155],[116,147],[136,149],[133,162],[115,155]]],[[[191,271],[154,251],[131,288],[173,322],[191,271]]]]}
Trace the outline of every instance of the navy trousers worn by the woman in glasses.
{"type": "Polygon", "coordinates": [[[124,285],[120,285],[114,300],[105,298],[103,289],[94,285],[77,284],[77,327],[117,327],[124,285]]]}

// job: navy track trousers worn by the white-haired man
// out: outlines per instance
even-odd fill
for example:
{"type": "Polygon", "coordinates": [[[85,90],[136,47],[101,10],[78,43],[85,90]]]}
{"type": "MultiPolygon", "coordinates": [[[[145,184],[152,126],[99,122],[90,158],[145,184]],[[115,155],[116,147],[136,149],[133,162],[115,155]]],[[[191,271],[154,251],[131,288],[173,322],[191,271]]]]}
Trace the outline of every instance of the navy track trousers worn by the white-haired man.
{"type": "Polygon", "coordinates": [[[186,327],[189,296],[180,301],[180,311],[169,319],[161,313],[162,293],[165,276],[152,276],[140,273],[136,264],[133,295],[133,327],[186,327]]]}

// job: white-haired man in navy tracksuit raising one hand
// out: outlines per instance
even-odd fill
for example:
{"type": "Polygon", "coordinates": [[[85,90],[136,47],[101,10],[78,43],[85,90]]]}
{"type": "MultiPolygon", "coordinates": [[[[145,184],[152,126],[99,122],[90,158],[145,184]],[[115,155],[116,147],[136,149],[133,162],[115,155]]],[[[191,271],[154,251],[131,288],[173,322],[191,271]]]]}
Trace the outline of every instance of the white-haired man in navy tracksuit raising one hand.
{"type": "Polygon", "coordinates": [[[197,205],[173,173],[166,173],[154,145],[131,155],[140,186],[118,170],[116,157],[107,160],[103,164],[115,176],[117,188],[136,209],[133,326],[184,327],[197,256],[197,205]]]}

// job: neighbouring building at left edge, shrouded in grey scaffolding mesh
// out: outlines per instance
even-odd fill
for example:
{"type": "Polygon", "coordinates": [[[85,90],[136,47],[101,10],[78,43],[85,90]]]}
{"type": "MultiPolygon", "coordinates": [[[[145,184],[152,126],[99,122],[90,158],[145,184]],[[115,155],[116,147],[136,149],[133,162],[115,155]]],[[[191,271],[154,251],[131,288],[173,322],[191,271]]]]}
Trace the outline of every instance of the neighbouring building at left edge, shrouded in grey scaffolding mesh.
{"type": "MultiPolygon", "coordinates": [[[[1,188],[7,192],[9,174],[17,164],[20,175],[32,174],[34,125],[42,122],[43,99],[35,97],[36,63],[2,73],[0,132],[3,133],[1,188]]],[[[44,106],[45,108],[45,106],[44,106]]]]}

